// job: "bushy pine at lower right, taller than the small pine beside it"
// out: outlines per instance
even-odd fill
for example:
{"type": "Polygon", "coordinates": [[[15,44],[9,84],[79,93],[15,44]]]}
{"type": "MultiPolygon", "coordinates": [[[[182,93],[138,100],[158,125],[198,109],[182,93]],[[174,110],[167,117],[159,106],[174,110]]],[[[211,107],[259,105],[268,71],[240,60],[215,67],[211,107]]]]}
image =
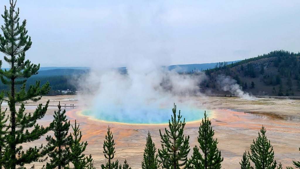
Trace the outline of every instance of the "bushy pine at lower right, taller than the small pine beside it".
{"type": "Polygon", "coordinates": [[[250,145],[251,154],[248,152],[248,156],[256,169],[275,169],[277,163],[274,160],[273,146],[265,133],[265,127],[262,126],[258,137],[250,145]]]}

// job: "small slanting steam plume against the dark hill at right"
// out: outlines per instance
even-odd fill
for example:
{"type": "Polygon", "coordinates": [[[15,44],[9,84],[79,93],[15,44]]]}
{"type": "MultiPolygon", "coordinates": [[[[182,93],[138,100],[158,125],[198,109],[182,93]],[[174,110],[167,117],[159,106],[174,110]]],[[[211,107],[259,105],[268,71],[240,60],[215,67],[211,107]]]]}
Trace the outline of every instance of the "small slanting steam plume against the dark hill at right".
{"type": "Polygon", "coordinates": [[[230,93],[237,95],[238,97],[242,97],[246,100],[256,100],[256,97],[250,96],[249,93],[244,93],[241,86],[236,83],[236,80],[231,77],[224,75],[218,75],[217,82],[222,88],[223,91],[229,91],[230,93]]]}

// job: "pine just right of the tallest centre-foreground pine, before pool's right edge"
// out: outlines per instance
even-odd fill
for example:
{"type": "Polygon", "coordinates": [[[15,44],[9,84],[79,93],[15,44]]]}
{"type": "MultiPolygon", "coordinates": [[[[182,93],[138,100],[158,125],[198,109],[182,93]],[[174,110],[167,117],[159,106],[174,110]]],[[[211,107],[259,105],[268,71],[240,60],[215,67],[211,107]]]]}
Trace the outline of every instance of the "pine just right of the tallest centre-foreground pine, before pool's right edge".
{"type": "Polygon", "coordinates": [[[214,130],[211,127],[211,121],[207,118],[206,111],[204,112],[204,119],[199,127],[198,143],[202,153],[199,152],[198,146],[193,148],[192,164],[195,169],[207,168],[221,168],[221,151],[217,148],[217,139],[214,140],[214,130]]]}

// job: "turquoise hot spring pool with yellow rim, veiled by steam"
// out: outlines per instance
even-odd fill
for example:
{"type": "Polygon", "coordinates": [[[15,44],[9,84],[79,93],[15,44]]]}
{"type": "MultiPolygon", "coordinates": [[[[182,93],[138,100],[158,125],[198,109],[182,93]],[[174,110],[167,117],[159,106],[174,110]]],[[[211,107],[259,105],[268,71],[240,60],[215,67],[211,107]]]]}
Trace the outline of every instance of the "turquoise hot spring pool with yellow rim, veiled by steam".
{"type": "MultiPolygon", "coordinates": [[[[204,110],[182,107],[180,109],[180,114],[185,118],[185,122],[199,121],[204,117],[204,110]]],[[[178,115],[179,109],[177,108],[176,114],[178,115]]],[[[211,115],[211,111],[206,110],[208,117],[211,115]]],[[[98,120],[104,120],[108,122],[120,122],[128,124],[165,124],[171,120],[171,115],[173,115],[172,108],[158,108],[149,109],[148,108],[120,108],[118,106],[113,106],[110,108],[102,108],[95,110],[85,110],[82,111],[82,115],[92,116],[98,120]]]]}

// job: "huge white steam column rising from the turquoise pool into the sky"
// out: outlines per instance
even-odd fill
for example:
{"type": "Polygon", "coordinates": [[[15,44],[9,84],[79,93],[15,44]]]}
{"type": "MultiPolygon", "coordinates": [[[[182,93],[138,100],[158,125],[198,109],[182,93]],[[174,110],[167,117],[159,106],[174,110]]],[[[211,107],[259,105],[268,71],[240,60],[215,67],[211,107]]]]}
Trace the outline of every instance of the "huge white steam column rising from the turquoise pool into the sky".
{"type": "Polygon", "coordinates": [[[178,70],[169,71],[157,66],[170,64],[175,48],[168,33],[170,27],[163,19],[164,3],[149,1],[140,5],[143,8],[135,9],[143,10],[132,10],[134,6],[125,5],[121,13],[116,13],[127,26],[113,22],[111,31],[106,32],[113,41],[103,44],[104,50],[98,55],[101,57],[95,57],[89,75],[80,80],[79,88],[92,97],[84,104],[91,106],[91,115],[95,117],[108,121],[133,117],[132,123],[146,118],[152,123],[158,121],[156,118],[162,118],[163,112],[158,111],[162,108],[168,109],[168,120],[173,103],[182,110],[195,106],[184,96],[204,98],[199,89],[199,84],[207,78],[204,73],[179,75],[178,70]],[[149,26],[153,27],[146,29],[149,26]],[[116,69],[98,68],[102,61],[110,61],[112,64],[106,66],[112,67],[116,60],[127,66],[127,74],[116,69]]]}

